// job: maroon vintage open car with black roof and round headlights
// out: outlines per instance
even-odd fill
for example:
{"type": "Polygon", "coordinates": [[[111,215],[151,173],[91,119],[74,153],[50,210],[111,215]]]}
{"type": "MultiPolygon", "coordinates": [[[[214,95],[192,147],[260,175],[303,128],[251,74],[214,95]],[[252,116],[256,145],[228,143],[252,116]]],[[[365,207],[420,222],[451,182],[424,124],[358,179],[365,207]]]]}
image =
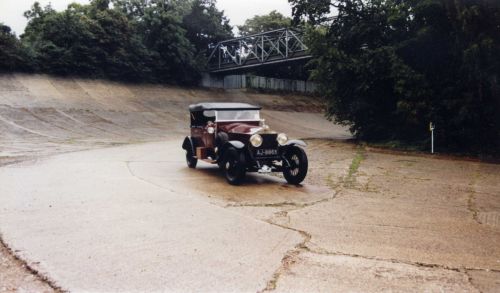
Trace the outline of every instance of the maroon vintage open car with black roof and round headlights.
{"type": "Polygon", "coordinates": [[[198,160],[218,164],[233,185],[246,172],[283,172],[288,183],[300,184],[307,175],[306,144],[271,130],[260,110],[243,103],[189,106],[191,136],[182,144],[188,167],[196,168],[198,160]]]}

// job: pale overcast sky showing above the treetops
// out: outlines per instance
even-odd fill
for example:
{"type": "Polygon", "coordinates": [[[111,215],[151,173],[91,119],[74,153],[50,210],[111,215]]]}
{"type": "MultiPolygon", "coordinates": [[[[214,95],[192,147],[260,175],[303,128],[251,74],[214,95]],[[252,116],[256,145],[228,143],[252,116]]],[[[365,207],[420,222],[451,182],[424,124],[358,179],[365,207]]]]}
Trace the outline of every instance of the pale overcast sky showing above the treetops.
{"type": "MultiPolygon", "coordinates": [[[[0,22],[10,26],[17,35],[24,32],[26,19],[23,12],[30,9],[35,0],[0,0],[0,22]]],[[[49,2],[56,10],[65,9],[69,3],[88,3],[88,0],[38,0],[42,6],[49,2]]],[[[288,0],[218,0],[217,6],[224,10],[232,25],[241,25],[247,18],[277,10],[291,16],[288,0]]]]}

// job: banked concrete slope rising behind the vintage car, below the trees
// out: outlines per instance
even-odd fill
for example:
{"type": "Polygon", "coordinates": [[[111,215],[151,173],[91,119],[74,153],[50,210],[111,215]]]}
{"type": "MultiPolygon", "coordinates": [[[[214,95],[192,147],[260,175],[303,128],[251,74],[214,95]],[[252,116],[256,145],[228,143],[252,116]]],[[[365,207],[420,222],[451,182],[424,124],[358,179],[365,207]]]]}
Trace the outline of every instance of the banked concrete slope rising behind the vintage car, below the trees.
{"type": "Polygon", "coordinates": [[[288,126],[286,128],[298,136],[308,136],[311,130],[316,136],[347,135],[342,129],[332,132],[334,127],[317,114],[297,113],[290,121],[288,112],[320,109],[318,103],[303,98],[40,75],[2,75],[0,148],[3,160],[186,135],[187,106],[203,101],[258,103],[266,109],[264,116],[270,124],[288,126]]]}

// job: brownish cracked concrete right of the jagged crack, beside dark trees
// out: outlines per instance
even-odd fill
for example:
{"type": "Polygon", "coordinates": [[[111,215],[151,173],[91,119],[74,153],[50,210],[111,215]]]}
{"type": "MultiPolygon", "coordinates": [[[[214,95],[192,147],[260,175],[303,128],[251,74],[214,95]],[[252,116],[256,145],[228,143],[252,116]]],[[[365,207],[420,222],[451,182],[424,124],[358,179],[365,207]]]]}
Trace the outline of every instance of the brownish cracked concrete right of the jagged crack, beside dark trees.
{"type": "MultiPolygon", "coordinates": [[[[498,291],[500,231],[475,220],[470,195],[478,195],[473,205],[484,197],[471,189],[477,183],[462,181],[471,176],[499,178],[500,168],[367,152],[356,183],[340,184],[335,199],[275,217],[310,234],[277,291],[498,291]],[[483,169],[487,175],[478,175],[483,169]]],[[[491,210],[500,190],[489,183],[484,194],[491,210]]]]}

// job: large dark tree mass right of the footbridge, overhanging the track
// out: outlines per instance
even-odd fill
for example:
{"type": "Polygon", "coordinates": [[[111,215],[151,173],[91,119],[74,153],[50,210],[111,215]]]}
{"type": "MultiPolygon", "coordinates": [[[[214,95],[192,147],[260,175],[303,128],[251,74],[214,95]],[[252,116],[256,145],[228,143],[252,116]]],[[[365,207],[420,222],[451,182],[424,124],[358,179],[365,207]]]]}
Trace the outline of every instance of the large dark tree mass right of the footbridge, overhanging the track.
{"type": "Polygon", "coordinates": [[[361,139],[422,146],[433,121],[441,149],[498,151],[500,2],[290,2],[295,21],[320,24],[313,78],[331,119],[361,139]]]}

